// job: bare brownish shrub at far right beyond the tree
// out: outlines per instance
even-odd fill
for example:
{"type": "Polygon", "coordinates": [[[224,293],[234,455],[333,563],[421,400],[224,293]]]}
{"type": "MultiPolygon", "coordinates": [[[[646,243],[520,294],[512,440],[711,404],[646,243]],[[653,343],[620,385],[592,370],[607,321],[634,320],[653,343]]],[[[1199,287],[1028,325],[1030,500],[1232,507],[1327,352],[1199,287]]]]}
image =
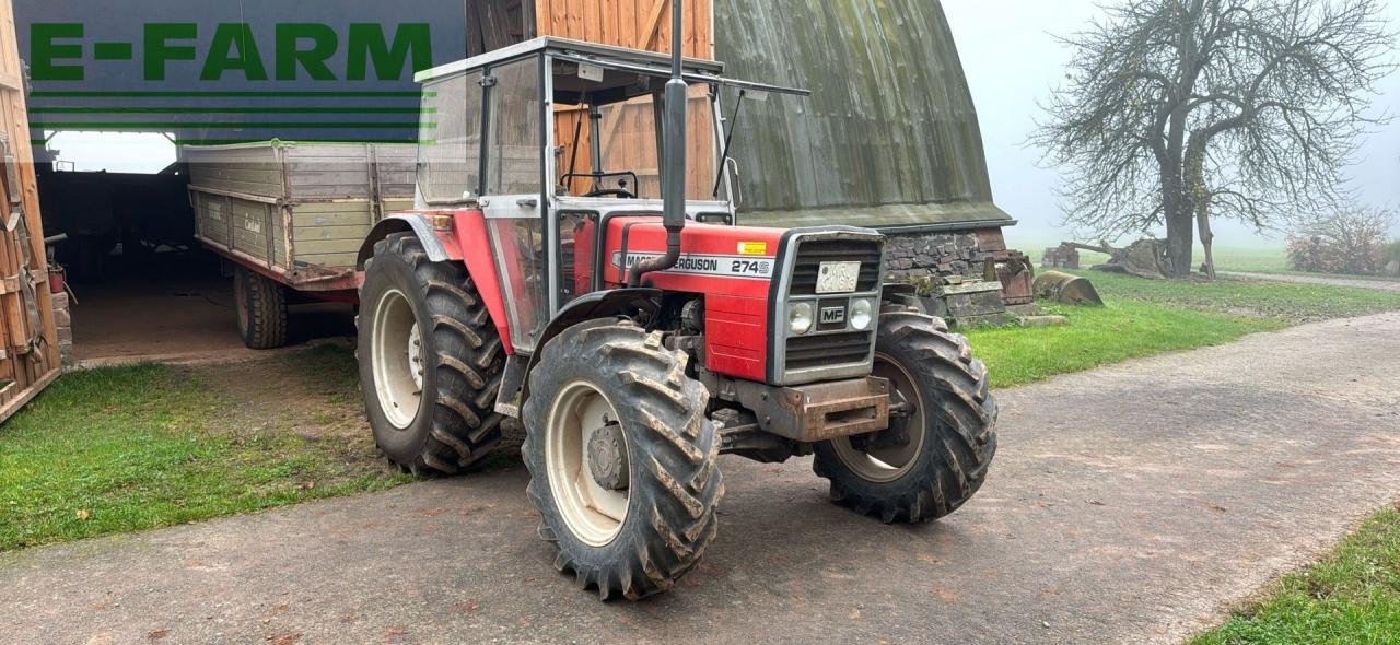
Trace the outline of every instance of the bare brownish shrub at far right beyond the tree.
{"type": "MultiPolygon", "coordinates": [[[[1288,236],[1288,266],[1295,271],[1373,276],[1390,262],[1387,235],[1394,211],[1352,208],[1301,221],[1288,236]]],[[[1394,245],[1392,245],[1394,246],[1394,245]]]]}

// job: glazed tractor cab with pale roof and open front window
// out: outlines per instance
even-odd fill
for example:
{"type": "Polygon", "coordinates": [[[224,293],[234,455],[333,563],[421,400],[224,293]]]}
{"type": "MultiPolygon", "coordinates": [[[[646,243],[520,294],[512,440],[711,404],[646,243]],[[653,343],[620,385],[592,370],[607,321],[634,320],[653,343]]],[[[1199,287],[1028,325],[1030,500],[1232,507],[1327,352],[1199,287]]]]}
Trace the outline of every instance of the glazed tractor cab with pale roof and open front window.
{"type": "MultiPolygon", "coordinates": [[[[507,290],[512,348],[531,353],[573,299],[605,288],[594,236],[664,211],[665,55],[539,38],[419,73],[419,208],[479,207],[507,290]]],[[[806,94],[727,80],[686,59],[685,217],[735,222],[720,88],[806,94]],[[725,172],[721,172],[725,171],[725,172]]]]}

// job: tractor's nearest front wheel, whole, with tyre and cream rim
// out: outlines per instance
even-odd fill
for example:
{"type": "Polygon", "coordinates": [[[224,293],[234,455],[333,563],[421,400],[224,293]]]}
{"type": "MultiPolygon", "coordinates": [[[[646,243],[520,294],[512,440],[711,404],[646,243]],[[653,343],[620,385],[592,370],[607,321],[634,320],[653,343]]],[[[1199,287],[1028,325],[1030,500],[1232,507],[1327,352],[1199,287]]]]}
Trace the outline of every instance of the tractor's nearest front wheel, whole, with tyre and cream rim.
{"type": "Polygon", "coordinates": [[[720,435],[687,361],[659,333],[598,320],[546,344],[531,374],[521,452],[540,537],[603,600],[671,589],[718,530],[720,435]],[[596,458],[601,432],[622,459],[596,458]]]}

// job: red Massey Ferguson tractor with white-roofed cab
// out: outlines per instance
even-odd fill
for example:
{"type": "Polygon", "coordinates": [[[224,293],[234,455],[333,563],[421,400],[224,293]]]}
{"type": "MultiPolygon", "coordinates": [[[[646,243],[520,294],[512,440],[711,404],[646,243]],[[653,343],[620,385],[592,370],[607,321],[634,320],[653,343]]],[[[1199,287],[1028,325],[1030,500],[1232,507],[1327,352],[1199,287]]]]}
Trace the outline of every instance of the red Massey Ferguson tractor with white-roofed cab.
{"type": "Polygon", "coordinates": [[[986,368],[882,284],[881,234],[735,225],[721,88],[805,92],[669,63],[542,38],[421,73],[421,210],[360,255],[379,448],[458,473],[522,424],[554,565],[603,599],[696,564],[722,453],[815,455],[833,499],[917,523],[965,504],[997,448],[986,368]],[[585,115],[570,147],[588,122],[587,172],[556,148],[564,111],[585,115]]]}

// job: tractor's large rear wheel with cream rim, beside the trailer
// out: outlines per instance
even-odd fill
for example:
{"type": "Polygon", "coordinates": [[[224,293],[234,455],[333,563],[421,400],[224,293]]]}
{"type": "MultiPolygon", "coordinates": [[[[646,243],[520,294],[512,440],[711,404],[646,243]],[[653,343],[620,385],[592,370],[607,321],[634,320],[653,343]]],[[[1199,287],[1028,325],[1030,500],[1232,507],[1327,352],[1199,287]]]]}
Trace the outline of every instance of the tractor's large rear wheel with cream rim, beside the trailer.
{"type": "Polygon", "coordinates": [[[413,474],[456,474],[501,441],[505,353],[466,269],[410,232],[375,243],[360,288],[360,389],[374,441],[413,474]]]}

